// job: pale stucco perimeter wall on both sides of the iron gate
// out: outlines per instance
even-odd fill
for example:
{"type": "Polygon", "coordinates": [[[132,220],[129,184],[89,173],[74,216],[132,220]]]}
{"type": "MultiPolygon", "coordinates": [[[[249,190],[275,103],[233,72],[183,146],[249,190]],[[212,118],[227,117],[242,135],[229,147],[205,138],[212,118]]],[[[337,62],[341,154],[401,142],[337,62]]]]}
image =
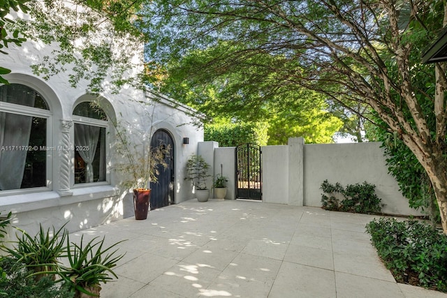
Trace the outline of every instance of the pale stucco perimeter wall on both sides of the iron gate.
{"type": "MultiPolygon", "coordinates": [[[[219,148],[216,142],[199,143],[198,154],[212,164],[212,173],[230,178],[226,199],[235,198],[235,147],[219,148]],[[214,151],[214,154],[212,154],[214,151]],[[214,160],[212,159],[214,156],[214,160]]],[[[291,138],[288,145],[262,147],[263,202],[321,207],[321,184],[328,180],[342,186],[367,181],[386,204],[383,212],[420,215],[408,207],[397,181],[388,174],[379,142],[356,144],[305,144],[291,138]]]]}

